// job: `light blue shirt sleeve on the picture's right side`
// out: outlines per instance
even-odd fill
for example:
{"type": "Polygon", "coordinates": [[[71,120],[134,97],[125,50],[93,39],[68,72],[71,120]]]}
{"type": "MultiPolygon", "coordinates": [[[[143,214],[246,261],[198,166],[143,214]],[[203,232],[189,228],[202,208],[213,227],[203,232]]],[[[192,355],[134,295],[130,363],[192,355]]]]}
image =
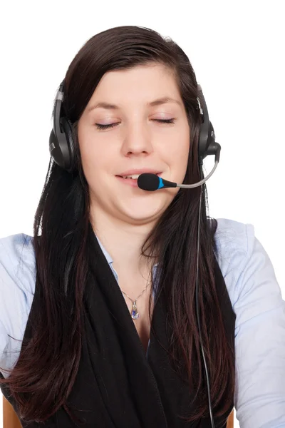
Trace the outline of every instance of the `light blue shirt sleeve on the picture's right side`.
{"type": "Polygon", "coordinates": [[[240,428],[285,428],[285,302],[254,227],[237,276],[234,407],[240,428]]]}

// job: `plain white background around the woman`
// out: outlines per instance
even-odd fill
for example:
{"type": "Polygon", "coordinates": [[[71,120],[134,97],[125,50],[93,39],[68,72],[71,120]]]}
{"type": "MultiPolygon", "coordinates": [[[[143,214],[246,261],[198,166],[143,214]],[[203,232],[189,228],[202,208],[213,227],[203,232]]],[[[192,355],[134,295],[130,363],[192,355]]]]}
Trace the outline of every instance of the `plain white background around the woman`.
{"type": "MultiPolygon", "coordinates": [[[[209,215],[254,225],[285,298],[284,7],[272,0],[2,6],[0,237],[32,235],[48,168],[53,98],[77,51],[110,27],[146,26],[180,44],[202,86],[222,146],[207,182],[209,215]]],[[[213,158],[205,165],[209,172],[213,158]]]]}

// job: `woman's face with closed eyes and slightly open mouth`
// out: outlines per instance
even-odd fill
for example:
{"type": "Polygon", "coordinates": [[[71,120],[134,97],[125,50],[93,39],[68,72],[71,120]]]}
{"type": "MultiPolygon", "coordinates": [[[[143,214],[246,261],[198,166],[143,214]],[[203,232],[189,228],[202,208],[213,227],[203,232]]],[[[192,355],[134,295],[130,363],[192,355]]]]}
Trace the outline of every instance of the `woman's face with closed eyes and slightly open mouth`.
{"type": "Polygon", "coordinates": [[[105,73],[78,121],[78,140],[95,218],[157,220],[179,188],[150,192],[121,177],[153,172],[175,183],[185,177],[190,127],[172,73],[160,64],[105,73]]]}

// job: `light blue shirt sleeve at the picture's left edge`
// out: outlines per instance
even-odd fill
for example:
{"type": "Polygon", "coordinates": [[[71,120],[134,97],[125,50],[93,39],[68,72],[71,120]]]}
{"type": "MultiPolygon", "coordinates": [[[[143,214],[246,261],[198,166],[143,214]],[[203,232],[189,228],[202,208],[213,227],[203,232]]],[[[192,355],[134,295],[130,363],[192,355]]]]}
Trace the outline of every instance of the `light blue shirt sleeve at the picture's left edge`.
{"type": "Polygon", "coordinates": [[[33,238],[24,233],[0,238],[1,367],[11,367],[16,361],[14,352],[21,347],[35,283],[33,238]]]}

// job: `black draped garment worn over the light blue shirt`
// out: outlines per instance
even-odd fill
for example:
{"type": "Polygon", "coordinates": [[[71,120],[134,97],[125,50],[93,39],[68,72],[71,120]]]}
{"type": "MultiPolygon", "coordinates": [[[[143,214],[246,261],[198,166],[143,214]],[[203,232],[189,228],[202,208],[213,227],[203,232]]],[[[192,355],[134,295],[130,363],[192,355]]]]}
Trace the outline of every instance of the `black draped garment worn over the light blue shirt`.
{"type": "MultiPolygon", "coordinates": [[[[190,394],[187,382],[172,370],[163,349],[167,349],[169,337],[163,293],[154,308],[152,327],[155,335],[150,331],[146,357],[118,282],[90,223],[88,245],[90,275],[84,299],[86,334],[76,382],[68,397],[68,406],[71,406],[73,414],[86,421],[83,425],[86,428],[210,428],[209,418],[186,424],[177,416],[191,414],[190,402],[194,394],[190,394]]],[[[217,260],[214,263],[227,340],[234,346],[236,315],[217,260]]],[[[37,290],[34,299],[36,293],[37,290]]],[[[31,337],[29,319],[25,338],[31,337]]],[[[16,409],[8,387],[1,385],[1,389],[16,409]]],[[[226,427],[229,413],[230,409],[223,417],[214,418],[216,428],[226,427]]],[[[29,428],[77,427],[62,407],[44,425],[36,422],[25,424],[23,420],[21,424],[29,428]]]]}

